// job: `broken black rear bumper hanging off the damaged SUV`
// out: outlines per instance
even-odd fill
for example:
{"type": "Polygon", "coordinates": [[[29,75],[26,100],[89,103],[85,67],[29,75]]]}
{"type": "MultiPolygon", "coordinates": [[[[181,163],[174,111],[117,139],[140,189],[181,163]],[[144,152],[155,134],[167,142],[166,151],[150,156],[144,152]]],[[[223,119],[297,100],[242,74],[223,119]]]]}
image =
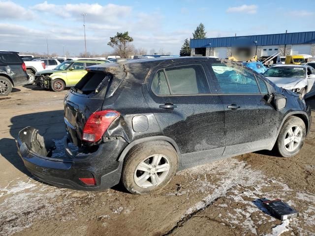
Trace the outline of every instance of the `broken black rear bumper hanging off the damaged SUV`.
{"type": "Polygon", "coordinates": [[[64,155],[54,157],[56,146],[53,141],[45,141],[33,127],[19,132],[18,153],[24,165],[32,173],[49,184],[77,190],[96,191],[110,188],[119,183],[123,163],[118,157],[126,147],[126,141],[113,140],[98,146],[93,152],[73,153],[64,138],[64,155]],[[95,178],[91,186],[79,178],[95,178]]]}

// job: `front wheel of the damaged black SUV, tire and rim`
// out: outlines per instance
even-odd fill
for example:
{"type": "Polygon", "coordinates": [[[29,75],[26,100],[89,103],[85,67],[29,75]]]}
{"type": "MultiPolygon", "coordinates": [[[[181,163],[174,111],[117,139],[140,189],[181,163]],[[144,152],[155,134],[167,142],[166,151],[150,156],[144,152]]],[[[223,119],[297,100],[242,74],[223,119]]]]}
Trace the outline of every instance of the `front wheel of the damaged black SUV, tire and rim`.
{"type": "Polygon", "coordinates": [[[306,127],[304,121],[294,116],[287,118],[277,139],[279,154],[283,157],[296,155],[303,147],[305,136],[306,127]]]}

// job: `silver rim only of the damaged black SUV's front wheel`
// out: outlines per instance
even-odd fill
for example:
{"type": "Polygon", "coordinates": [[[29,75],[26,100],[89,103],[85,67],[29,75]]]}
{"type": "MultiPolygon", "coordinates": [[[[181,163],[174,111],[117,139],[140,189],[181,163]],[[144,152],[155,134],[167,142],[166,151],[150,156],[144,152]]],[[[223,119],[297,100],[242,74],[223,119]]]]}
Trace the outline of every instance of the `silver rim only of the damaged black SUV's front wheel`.
{"type": "Polygon", "coordinates": [[[302,128],[297,125],[291,126],[284,136],[284,148],[287,151],[294,151],[302,142],[302,128]]]}

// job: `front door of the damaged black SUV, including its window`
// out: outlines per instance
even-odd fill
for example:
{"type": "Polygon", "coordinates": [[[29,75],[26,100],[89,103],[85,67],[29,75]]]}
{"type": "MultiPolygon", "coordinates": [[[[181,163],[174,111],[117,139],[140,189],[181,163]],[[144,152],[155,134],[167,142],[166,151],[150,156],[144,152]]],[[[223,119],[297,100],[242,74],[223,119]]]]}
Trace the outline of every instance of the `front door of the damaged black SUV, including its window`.
{"type": "Polygon", "coordinates": [[[268,147],[277,131],[279,113],[266,101],[265,81],[234,63],[211,63],[210,67],[225,110],[223,155],[268,147]]]}

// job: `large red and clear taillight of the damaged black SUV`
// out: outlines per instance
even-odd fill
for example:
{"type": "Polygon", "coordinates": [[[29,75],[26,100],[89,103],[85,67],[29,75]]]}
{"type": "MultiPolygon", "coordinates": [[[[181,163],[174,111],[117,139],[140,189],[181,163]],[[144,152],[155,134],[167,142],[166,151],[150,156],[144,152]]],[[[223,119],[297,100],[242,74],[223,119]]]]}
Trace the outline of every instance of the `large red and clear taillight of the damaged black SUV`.
{"type": "Polygon", "coordinates": [[[88,142],[99,141],[108,126],[119,116],[119,112],[112,110],[93,113],[84,125],[82,139],[88,142]]]}

